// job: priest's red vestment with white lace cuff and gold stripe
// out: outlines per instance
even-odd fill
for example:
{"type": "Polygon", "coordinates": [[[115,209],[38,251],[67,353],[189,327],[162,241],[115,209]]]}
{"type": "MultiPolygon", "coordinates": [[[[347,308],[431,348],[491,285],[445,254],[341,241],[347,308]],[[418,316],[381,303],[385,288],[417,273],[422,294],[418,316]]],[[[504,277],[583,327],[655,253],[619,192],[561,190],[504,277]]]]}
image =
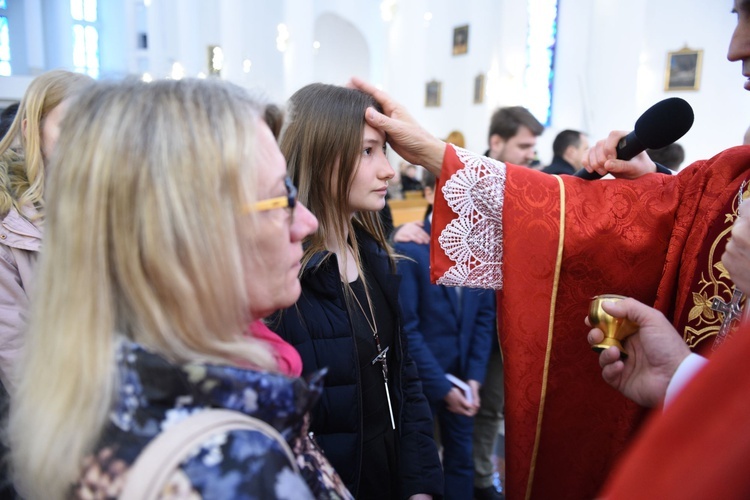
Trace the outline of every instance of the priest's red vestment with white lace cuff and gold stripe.
{"type": "Polygon", "coordinates": [[[703,283],[704,244],[726,239],[750,148],[676,176],[585,181],[449,145],[442,172],[433,280],[501,289],[507,497],[594,498],[644,410],[602,380],[586,341],[589,301],[635,297],[676,318],[679,331],[690,318],[703,339],[715,335],[721,318],[702,298],[728,300],[731,283],[728,296],[691,287],[703,283]]]}

